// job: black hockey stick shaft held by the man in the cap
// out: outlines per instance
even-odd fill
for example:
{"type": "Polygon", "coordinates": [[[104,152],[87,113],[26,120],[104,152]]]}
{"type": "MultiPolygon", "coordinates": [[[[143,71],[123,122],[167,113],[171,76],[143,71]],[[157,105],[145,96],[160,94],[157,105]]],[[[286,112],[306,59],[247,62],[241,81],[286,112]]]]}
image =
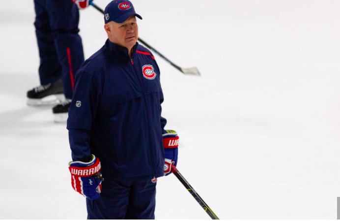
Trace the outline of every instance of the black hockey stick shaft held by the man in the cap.
{"type": "Polygon", "coordinates": [[[184,185],[184,187],[193,195],[199,205],[203,208],[203,210],[210,216],[213,220],[220,220],[216,214],[208,207],[208,205],[203,201],[203,199],[198,195],[198,193],[194,190],[194,188],[188,183],[188,181],[182,176],[182,174],[178,171],[178,169],[171,165],[171,172],[177,177],[177,179],[184,185]]]}

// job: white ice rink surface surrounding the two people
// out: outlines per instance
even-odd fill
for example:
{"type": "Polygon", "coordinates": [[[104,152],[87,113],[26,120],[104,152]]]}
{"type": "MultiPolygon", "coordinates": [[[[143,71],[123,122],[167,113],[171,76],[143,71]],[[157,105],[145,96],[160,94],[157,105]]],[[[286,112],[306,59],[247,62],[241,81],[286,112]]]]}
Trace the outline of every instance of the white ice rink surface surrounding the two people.
{"type": "MultiPolygon", "coordinates": [[[[104,8],[108,0],[96,0],[104,8]]],[[[156,56],[178,169],[220,219],[336,219],[340,196],[339,0],[135,0],[156,56]]],[[[39,84],[33,0],[0,7],[0,219],[85,219],[65,124],[26,105],[39,84]]],[[[81,12],[85,57],[103,16],[81,12]]],[[[157,219],[209,219],[173,176],[157,219]]]]}

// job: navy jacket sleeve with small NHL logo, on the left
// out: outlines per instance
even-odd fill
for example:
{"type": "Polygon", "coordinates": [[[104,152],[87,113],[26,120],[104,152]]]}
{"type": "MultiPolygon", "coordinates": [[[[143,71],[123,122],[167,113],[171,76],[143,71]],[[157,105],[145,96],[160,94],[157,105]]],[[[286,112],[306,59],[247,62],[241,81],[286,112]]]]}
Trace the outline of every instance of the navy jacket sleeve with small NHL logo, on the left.
{"type": "Polygon", "coordinates": [[[100,88],[93,74],[77,72],[67,120],[73,161],[90,159],[90,130],[101,96],[100,88]]]}

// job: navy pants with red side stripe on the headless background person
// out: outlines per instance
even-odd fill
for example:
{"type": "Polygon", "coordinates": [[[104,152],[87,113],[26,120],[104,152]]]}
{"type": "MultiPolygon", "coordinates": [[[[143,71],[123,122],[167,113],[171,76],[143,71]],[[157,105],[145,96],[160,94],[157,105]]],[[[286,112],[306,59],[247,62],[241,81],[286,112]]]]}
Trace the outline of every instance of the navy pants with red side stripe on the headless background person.
{"type": "Polygon", "coordinates": [[[79,10],[72,0],[34,0],[40,84],[62,79],[66,98],[72,98],[74,76],[84,63],[78,34],[79,10]]]}

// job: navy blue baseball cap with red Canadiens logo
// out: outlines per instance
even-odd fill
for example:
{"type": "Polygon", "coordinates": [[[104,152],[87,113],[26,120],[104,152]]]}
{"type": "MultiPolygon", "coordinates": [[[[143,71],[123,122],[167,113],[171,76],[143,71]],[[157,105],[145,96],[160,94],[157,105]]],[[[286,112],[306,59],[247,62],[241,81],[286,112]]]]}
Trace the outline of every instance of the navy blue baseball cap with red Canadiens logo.
{"type": "Polygon", "coordinates": [[[142,16],[135,12],[135,8],[129,0],[113,0],[104,10],[105,24],[108,22],[123,23],[130,16],[135,15],[142,19],[142,16]]]}

